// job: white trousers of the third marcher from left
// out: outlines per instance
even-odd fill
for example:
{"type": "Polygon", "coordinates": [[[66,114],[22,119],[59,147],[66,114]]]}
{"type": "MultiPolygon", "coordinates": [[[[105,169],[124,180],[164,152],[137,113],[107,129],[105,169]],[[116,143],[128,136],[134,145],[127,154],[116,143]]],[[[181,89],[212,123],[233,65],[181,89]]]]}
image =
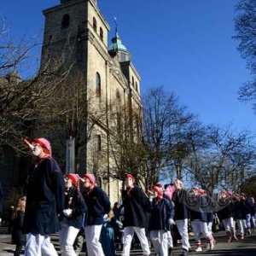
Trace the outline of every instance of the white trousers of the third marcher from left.
{"type": "Polygon", "coordinates": [[[104,256],[100,236],[102,225],[90,225],[85,227],[85,241],[88,256],[104,256]]]}

